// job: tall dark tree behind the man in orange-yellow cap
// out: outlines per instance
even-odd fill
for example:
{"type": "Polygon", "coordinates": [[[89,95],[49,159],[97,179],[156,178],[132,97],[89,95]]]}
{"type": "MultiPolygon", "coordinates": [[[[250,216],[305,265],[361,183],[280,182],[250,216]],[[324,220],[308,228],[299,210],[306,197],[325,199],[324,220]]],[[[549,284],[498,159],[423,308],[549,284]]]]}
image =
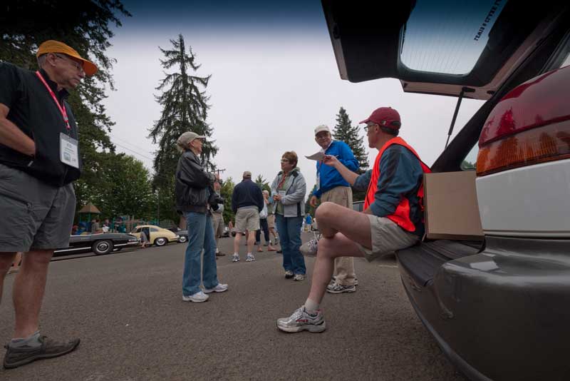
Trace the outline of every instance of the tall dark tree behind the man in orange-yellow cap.
{"type": "MultiPolygon", "coordinates": [[[[108,136],[114,125],[106,114],[105,88],[115,90],[111,69],[115,59],[106,54],[111,46],[110,25],[121,26],[120,16],[130,16],[119,0],[35,1],[8,0],[0,6],[0,61],[36,70],[36,51],[43,41],[55,39],[76,49],[93,61],[98,73],[85,78],[68,101],[76,118],[83,161],[83,184],[96,187],[102,174],[104,153],[115,147],[108,136]]],[[[86,203],[77,193],[78,205],[86,203]]]]}

